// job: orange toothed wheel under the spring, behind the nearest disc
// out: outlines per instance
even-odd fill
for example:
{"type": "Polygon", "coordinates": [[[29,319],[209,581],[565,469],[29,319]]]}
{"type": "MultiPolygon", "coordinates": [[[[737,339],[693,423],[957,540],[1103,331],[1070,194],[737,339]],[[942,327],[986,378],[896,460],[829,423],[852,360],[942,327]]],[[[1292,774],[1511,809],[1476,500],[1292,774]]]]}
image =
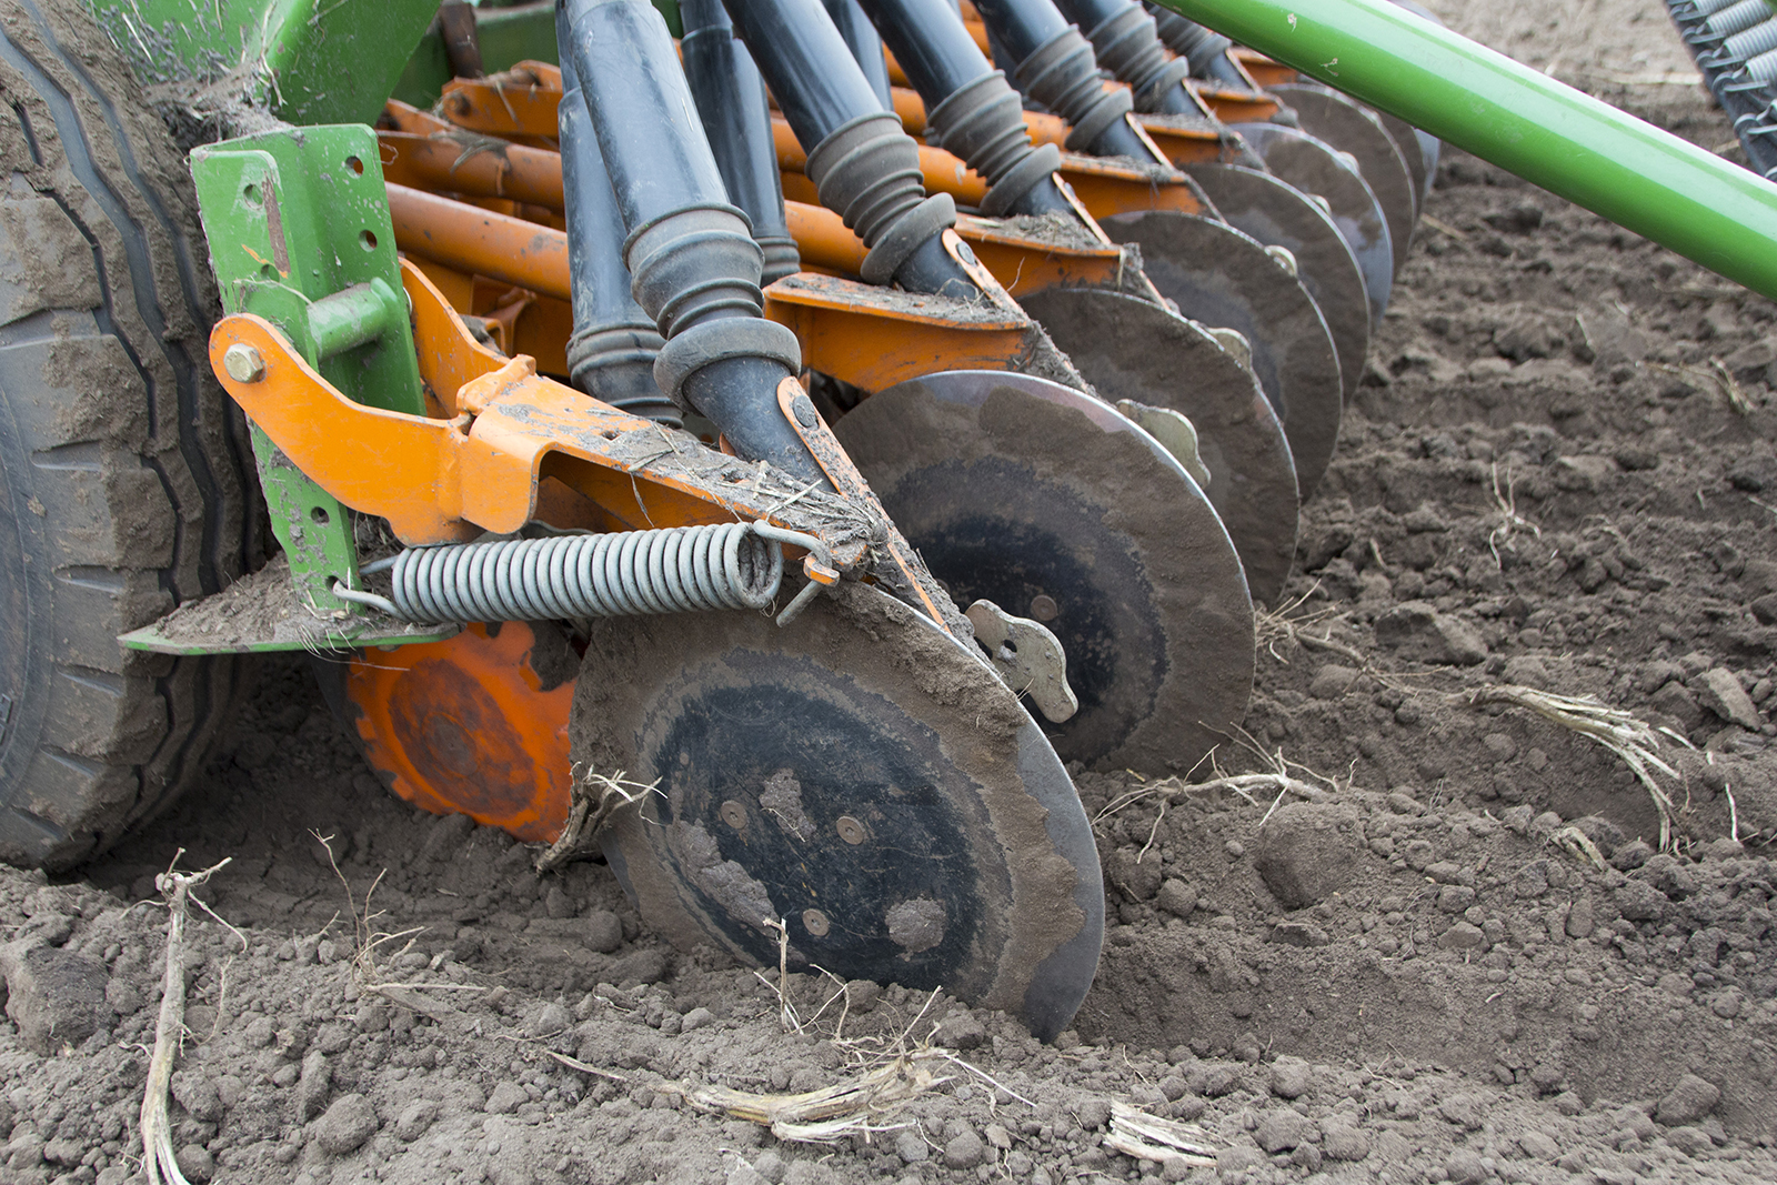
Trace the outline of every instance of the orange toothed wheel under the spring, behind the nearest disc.
{"type": "Polygon", "coordinates": [[[469,625],[455,638],[366,650],[345,675],[370,764],[396,794],[526,842],[569,812],[574,652],[549,627],[469,625]]]}

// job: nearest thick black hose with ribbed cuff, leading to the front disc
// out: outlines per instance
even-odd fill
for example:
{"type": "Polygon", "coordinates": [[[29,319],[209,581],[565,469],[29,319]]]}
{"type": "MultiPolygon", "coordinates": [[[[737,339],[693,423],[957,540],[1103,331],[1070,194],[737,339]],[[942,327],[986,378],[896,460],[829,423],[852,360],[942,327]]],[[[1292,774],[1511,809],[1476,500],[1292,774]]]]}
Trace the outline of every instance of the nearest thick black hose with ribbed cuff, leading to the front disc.
{"type": "Polygon", "coordinates": [[[627,229],[631,293],[666,339],[654,380],[739,457],[832,489],[778,409],[801,348],[761,316],[762,252],[729,204],[665,20],[647,0],[558,0],[558,12],[627,229]]]}

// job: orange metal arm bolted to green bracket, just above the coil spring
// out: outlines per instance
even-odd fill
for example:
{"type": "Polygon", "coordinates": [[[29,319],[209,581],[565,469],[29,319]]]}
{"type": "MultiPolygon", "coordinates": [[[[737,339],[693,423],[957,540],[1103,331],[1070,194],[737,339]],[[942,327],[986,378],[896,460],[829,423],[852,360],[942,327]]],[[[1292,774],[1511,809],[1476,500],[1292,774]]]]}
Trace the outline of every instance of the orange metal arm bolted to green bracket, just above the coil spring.
{"type": "MultiPolygon", "coordinates": [[[[441,418],[345,398],[252,314],[217,323],[210,362],[297,467],[354,510],[387,519],[403,544],[510,535],[533,519],[601,529],[777,521],[745,476],[684,464],[695,458],[654,421],[537,375],[526,355],[480,345],[414,263],[402,263],[402,281],[421,380],[441,418]],[[233,345],[259,354],[261,378],[227,375],[222,355],[233,345]]],[[[862,553],[839,544],[833,554],[849,567],[862,553]]]]}

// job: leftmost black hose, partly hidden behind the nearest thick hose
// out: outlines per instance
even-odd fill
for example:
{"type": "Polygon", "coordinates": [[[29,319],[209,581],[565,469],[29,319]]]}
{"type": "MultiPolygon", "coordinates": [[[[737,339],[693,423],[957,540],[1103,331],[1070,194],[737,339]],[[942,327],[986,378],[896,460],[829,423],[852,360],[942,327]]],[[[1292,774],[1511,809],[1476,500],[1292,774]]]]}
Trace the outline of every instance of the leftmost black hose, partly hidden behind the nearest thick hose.
{"type": "Polygon", "coordinates": [[[567,341],[569,382],[626,412],[679,425],[679,407],[654,382],[654,359],[666,343],[654,318],[629,295],[627,229],[567,55],[562,57],[558,135],[574,311],[574,332],[567,341]]]}

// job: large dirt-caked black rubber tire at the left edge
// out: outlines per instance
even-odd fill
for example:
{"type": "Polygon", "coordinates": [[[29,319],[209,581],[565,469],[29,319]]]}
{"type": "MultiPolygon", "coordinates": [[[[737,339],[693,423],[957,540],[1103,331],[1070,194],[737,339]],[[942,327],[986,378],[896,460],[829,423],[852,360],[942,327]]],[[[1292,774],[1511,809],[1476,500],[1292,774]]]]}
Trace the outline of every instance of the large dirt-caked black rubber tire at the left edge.
{"type": "Polygon", "coordinates": [[[238,659],[117,634],[263,560],[183,155],[82,0],[0,0],[0,860],[62,869],[172,801],[238,659]]]}

